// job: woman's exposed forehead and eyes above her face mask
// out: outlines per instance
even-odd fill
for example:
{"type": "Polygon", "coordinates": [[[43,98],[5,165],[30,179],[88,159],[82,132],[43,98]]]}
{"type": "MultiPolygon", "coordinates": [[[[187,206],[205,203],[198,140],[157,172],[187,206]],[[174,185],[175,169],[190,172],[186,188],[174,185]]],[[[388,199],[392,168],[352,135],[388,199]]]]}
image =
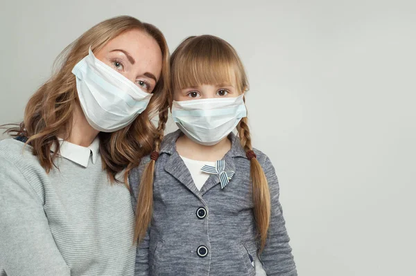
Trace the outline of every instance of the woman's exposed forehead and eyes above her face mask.
{"type": "Polygon", "coordinates": [[[94,55],[147,93],[152,93],[162,73],[162,50],[142,30],[122,33],[94,55]]]}

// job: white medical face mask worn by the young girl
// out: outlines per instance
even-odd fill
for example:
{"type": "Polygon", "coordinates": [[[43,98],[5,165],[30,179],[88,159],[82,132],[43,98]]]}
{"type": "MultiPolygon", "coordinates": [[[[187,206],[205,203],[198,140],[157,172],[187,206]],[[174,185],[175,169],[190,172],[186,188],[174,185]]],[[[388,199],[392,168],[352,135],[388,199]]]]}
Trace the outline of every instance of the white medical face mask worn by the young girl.
{"type": "Polygon", "coordinates": [[[173,101],[173,120],[194,142],[215,145],[247,116],[243,97],[173,101]]]}

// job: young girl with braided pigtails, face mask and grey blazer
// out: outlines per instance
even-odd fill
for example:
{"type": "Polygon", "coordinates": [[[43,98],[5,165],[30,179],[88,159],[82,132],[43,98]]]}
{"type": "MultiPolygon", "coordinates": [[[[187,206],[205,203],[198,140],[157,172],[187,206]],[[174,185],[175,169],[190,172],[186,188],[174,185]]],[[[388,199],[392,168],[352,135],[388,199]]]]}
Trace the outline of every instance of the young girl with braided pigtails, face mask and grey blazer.
{"type": "Polygon", "coordinates": [[[297,275],[275,169],[251,145],[236,51],[218,37],[189,37],[171,76],[179,130],[158,137],[129,178],[136,275],[297,275]]]}

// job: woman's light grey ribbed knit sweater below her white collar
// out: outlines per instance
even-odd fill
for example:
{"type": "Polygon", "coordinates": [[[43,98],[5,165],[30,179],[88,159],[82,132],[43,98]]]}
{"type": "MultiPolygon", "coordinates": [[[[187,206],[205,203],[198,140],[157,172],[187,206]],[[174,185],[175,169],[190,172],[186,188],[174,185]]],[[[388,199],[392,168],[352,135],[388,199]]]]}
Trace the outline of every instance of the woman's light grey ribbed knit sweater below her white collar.
{"type": "Polygon", "coordinates": [[[31,147],[0,142],[0,275],[132,275],[134,214],[101,158],[58,158],[46,174],[31,147]],[[91,161],[91,160],[90,160],[91,161]]]}

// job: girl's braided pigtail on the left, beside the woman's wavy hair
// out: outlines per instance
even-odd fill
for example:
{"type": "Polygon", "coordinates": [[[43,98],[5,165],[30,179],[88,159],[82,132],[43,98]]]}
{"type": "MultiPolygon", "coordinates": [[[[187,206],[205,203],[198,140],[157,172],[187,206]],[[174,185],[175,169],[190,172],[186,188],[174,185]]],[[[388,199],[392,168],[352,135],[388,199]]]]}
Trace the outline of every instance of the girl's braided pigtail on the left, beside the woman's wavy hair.
{"type": "Polygon", "coordinates": [[[166,106],[159,112],[159,125],[155,136],[154,151],[150,154],[150,162],[146,165],[141,176],[139,185],[139,194],[137,195],[136,208],[136,225],[135,225],[135,241],[139,243],[146,236],[147,228],[150,225],[153,214],[153,177],[155,173],[155,163],[159,158],[160,144],[164,136],[164,129],[168,120],[168,102],[166,106]]]}

